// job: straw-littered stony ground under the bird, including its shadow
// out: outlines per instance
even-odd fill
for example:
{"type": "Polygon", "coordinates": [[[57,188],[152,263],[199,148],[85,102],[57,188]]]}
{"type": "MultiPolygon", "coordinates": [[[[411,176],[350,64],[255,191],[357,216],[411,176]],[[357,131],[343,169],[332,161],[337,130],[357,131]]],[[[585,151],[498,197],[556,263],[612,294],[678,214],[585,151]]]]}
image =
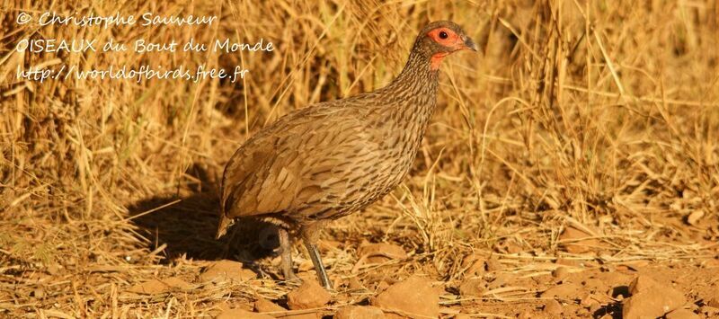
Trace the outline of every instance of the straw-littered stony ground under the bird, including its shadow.
{"type": "MultiPolygon", "coordinates": [[[[418,302],[431,301],[433,295],[436,311],[445,317],[620,318],[623,305],[636,295],[630,286],[637,278],[656,285],[645,294],[649,296],[642,306],[656,302],[661,309],[670,304],[660,315],[677,309],[700,318],[719,315],[719,229],[714,221],[689,226],[680,219],[653,220],[652,226],[636,228],[629,237],[622,235],[626,227],[619,226],[589,235],[573,228],[571,219],[567,222],[555,214],[545,216],[551,217],[546,223],[565,225],[557,226],[557,233],[574,233],[558,235],[555,247],[526,243],[523,238],[541,232],[517,227],[500,230],[494,244],[454,239],[441,250],[426,251],[413,244],[416,227],[400,212],[389,210],[389,200],[330,227],[321,249],[336,292],[309,312],[292,309],[288,293],[297,286],[281,281],[274,226],[241,221],[228,238],[215,241],[213,197],[209,192],[143,202],[131,210],[126,229],[118,221],[87,223],[65,217],[56,222],[65,226],[39,224],[40,218],[32,216],[13,225],[5,222],[4,241],[15,244],[3,252],[4,314],[196,317],[237,315],[230,309],[239,308],[312,318],[333,315],[349,305],[377,305],[377,296],[388,288],[419,277],[426,281],[390,298],[403,301],[426,283],[431,289],[417,297],[418,302]],[[386,213],[381,212],[384,208],[386,213]],[[147,240],[139,244],[138,237],[126,234],[147,240]],[[13,260],[22,249],[21,236],[31,247],[53,250],[52,262],[43,262],[42,255],[35,262],[13,260]],[[66,236],[74,238],[60,239],[66,236]],[[98,249],[108,245],[112,248],[98,249]],[[677,294],[668,302],[670,290],[677,294]],[[258,308],[258,302],[266,301],[280,308],[258,308]]],[[[315,270],[301,245],[295,255],[299,276],[314,284],[315,270]]],[[[639,311],[652,314],[655,309],[648,307],[639,311]]],[[[380,308],[403,315],[415,309],[380,308]]]]}

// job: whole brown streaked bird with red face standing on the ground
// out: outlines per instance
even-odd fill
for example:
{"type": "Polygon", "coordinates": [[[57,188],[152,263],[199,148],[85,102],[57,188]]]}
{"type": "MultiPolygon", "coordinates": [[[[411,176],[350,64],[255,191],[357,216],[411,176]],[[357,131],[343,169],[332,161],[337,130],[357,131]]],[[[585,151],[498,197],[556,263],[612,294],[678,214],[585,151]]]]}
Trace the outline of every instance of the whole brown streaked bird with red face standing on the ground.
{"type": "Polygon", "coordinates": [[[299,237],[319,283],[332,290],[320,232],[404,180],[437,104],[440,63],[466,49],[477,50],[457,23],[431,22],[386,86],[290,111],[249,137],[222,175],[217,239],[238,217],[270,222],[279,229],[284,279],[298,280],[291,247],[299,237]]]}

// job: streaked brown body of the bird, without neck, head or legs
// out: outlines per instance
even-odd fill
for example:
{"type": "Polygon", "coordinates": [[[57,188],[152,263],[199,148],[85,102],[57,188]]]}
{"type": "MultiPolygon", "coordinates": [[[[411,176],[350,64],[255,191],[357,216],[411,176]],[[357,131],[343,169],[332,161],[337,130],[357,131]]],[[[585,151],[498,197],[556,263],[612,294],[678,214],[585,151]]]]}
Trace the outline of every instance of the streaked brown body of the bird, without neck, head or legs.
{"type": "Polygon", "coordinates": [[[382,111],[389,107],[371,93],[324,102],[248,139],[226,165],[219,233],[235,217],[340,217],[394,189],[414,154],[397,147],[405,141],[382,111]]]}

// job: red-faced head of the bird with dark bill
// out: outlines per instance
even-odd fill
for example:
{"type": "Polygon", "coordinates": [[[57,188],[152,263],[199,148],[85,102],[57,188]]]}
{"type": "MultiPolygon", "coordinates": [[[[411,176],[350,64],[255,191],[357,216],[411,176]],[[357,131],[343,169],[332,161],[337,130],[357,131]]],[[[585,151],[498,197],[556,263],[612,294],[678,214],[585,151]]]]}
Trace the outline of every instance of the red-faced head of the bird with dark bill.
{"type": "Polygon", "coordinates": [[[470,39],[455,22],[438,21],[428,24],[414,44],[414,49],[422,51],[422,55],[430,58],[432,70],[439,68],[442,58],[458,50],[477,50],[475,41],[470,39]]]}

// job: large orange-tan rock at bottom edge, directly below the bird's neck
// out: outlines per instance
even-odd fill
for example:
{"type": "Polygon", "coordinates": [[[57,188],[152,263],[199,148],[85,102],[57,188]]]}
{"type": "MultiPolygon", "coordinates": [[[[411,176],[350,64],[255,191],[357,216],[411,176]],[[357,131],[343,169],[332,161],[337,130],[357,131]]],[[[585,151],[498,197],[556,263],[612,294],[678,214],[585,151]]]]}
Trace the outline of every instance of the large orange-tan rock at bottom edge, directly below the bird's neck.
{"type": "Polygon", "coordinates": [[[377,295],[372,303],[388,311],[386,316],[389,318],[408,315],[439,317],[438,291],[431,287],[429,279],[422,277],[413,276],[390,286],[377,295]]]}

